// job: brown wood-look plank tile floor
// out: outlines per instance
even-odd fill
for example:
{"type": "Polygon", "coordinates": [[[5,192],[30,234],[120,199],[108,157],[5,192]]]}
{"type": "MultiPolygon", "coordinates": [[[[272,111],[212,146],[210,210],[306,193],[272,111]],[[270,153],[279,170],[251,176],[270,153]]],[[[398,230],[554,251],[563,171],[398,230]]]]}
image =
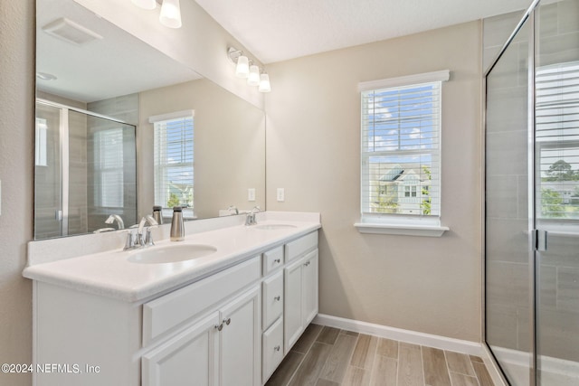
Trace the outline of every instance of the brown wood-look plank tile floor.
{"type": "Polygon", "coordinates": [[[477,356],[308,325],[266,385],[493,386],[477,356]]]}

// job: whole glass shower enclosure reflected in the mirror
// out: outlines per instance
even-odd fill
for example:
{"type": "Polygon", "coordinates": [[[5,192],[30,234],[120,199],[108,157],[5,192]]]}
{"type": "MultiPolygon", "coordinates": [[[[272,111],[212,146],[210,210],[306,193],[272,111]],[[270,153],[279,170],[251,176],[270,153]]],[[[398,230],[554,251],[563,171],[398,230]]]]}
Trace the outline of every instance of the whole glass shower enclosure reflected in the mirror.
{"type": "Polygon", "coordinates": [[[34,239],[137,222],[135,126],[36,101],[34,239]]]}

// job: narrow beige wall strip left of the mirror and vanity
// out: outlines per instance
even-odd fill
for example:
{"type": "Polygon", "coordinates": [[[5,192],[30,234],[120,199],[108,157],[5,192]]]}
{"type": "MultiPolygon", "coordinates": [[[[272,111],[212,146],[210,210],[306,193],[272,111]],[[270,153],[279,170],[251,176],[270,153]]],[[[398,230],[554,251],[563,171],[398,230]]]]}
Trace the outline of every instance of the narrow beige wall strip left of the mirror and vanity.
{"type": "MultiPolygon", "coordinates": [[[[0,362],[32,360],[32,284],[22,277],[33,235],[34,1],[0,2],[0,362]]],[[[0,384],[30,375],[0,372],[0,384]]]]}

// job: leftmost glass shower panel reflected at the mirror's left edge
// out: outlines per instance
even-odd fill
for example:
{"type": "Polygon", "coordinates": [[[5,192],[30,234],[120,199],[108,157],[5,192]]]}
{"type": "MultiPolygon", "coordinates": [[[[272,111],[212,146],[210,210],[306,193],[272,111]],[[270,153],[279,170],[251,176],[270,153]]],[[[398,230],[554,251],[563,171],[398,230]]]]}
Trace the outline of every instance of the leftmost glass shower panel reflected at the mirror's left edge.
{"type": "Polygon", "coordinates": [[[36,103],[34,239],[68,234],[68,113],[36,103]]]}

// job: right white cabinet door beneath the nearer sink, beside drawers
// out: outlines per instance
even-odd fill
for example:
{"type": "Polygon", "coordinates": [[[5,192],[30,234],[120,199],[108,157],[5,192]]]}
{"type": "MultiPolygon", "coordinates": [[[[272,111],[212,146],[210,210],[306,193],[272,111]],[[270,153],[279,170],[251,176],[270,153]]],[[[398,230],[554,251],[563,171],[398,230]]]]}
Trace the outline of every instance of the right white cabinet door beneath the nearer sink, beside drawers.
{"type": "Polygon", "coordinates": [[[221,310],[220,384],[261,383],[261,288],[253,287],[221,310]]]}

